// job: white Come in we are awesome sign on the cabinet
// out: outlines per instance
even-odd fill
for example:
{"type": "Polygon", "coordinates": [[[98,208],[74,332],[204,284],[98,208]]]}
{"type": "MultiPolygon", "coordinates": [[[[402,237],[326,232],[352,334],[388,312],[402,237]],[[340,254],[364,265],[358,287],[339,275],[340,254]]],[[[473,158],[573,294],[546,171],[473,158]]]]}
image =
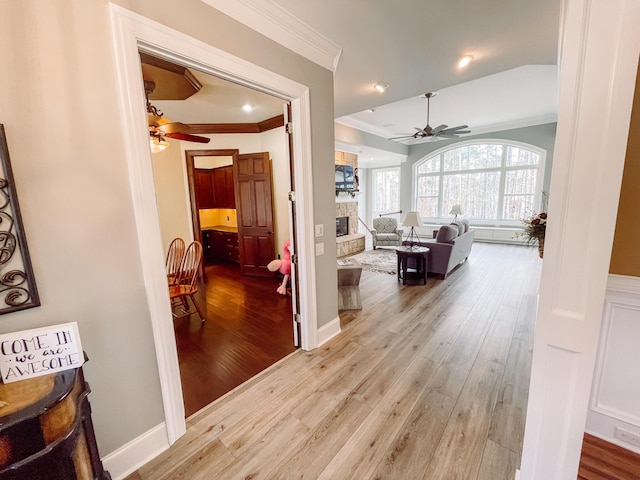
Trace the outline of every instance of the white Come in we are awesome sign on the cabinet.
{"type": "Polygon", "coordinates": [[[76,322],[0,335],[3,383],[70,370],[83,363],[76,322]]]}

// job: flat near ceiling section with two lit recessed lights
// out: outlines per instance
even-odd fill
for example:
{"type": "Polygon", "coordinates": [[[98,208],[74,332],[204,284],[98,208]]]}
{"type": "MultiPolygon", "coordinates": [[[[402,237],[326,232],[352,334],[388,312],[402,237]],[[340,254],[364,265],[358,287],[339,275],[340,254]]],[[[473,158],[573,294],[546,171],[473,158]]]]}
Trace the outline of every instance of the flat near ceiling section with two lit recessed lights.
{"type": "Polygon", "coordinates": [[[557,61],[560,0],[273,1],[342,48],[336,117],[557,61]],[[376,82],[391,86],[380,96],[376,82]]]}

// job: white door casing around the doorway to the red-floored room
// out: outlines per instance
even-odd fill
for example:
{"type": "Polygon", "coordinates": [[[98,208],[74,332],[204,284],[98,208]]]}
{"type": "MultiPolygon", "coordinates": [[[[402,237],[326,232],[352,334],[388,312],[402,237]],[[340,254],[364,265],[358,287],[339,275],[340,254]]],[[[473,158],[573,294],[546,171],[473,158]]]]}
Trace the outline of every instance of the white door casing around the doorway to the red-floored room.
{"type": "MultiPolygon", "coordinates": [[[[291,102],[296,185],[297,253],[300,271],[302,348],[317,346],[316,276],[311,177],[309,88],[230,55],[122,7],[110,4],[118,71],[120,120],[169,444],[186,431],[173,318],[166,285],[160,223],[149,150],[138,49],[179,60],[213,75],[291,102]],[[309,233],[311,232],[311,234],[309,233]]],[[[293,339],[292,339],[293,341],[293,339]]]]}

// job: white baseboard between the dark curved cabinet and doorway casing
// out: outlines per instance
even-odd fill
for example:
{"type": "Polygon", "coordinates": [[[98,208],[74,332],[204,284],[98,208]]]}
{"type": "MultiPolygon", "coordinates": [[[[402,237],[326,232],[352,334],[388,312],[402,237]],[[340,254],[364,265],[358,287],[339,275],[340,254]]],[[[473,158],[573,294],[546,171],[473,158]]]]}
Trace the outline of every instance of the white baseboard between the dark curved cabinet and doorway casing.
{"type": "Polygon", "coordinates": [[[169,448],[165,423],[153,427],[102,459],[113,480],[121,480],[169,448]]]}

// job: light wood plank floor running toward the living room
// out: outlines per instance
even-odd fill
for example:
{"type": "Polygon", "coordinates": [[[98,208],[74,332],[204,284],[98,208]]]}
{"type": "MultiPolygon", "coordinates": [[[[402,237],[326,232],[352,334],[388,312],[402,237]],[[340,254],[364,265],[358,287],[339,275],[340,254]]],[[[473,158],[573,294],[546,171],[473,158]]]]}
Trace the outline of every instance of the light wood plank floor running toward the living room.
{"type": "Polygon", "coordinates": [[[188,420],[139,479],[512,480],[542,261],[476,243],[446,280],[363,272],[362,311],[188,420]]]}

